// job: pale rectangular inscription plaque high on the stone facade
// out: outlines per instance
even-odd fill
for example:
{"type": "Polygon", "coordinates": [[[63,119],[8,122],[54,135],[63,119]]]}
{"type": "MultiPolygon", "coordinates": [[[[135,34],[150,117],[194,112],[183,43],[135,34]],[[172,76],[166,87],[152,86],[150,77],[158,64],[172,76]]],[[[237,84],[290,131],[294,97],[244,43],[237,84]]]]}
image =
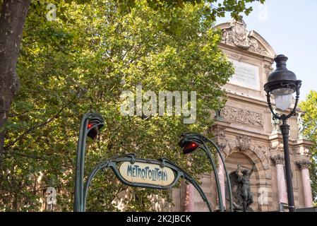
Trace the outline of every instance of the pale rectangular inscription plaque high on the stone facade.
{"type": "Polygon", "coordinates": [[[235,59],[229,59],[234,64],[234,75],[229,80],[230,84],[239,85],[252,90],[260,90],[259,68],[235,59]]]}

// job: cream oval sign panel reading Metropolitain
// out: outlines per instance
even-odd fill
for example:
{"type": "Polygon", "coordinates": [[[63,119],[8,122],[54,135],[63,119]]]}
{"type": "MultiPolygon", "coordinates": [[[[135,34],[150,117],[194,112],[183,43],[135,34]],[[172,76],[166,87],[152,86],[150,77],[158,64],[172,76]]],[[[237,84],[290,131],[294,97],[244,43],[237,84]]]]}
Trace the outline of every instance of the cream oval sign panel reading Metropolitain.
{"type": "Polygon", "coordinates": [[[119,168],[124,179],[131,183],[152,184],[156,186],[169,186],[174,182],[175,174],[168,167],[144,162],[124,162],[119,168]]]}

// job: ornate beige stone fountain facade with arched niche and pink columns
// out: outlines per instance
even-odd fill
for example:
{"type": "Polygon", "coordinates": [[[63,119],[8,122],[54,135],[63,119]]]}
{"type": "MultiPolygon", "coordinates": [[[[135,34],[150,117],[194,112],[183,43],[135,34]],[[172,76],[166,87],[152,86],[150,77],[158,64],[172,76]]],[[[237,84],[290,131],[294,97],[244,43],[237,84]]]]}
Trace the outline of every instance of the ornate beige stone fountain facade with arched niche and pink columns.
{"type": "MultiPolygon", "coordinates": [[[[246,30],[243,21],[231,20],[216,28],[222,30],[220,48],[234,64],[235,73],[224,87],[228,100],[212,128],[215,140],[223,147],[222,155],[229,172],[237,169],[237,164],[249,169],[256,165],[251,175],[254,201],[251,208],[254,211],[281,210],[283,203],[287,203],[282,134],[279,122],[272,120],[263,89],[273,71],[275,52],[256,31],[246,30]]],[[[297,112],[304,113],[300,109],[297,112]]],[[[297,121],[297,117],[288,120],[294,199],[296,208],[308,208],[313,203],[308,169],[311,142],[299,134],[297,121]]],[[[225,172],[221,164],[218,176],[225,200],[225,172]]],[[[201,182],[213,209],[217,209],[213,174],[202,175],[201,182]]],[[[173,211],[208,211],[191,185],[183,184],[181,189],[174,189],[172,198],[173,211]]],[[[229,207],[229,203],[224,204],[229,207]]]]}

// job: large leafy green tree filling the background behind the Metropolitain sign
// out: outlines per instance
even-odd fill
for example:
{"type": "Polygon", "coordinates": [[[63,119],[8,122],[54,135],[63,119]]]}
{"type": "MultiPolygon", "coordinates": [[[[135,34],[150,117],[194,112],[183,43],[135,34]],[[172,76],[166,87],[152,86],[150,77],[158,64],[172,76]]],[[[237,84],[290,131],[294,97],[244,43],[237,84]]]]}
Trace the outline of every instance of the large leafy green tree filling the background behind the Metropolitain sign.
{"type": "MultiPolygon", "coordinates": [[[[220,32],[213,29],[222,9],[198,1],[179,7],[169,1],[131,2],[56,1],[60,13],[52,21],[45,17],[44,4],[32,2],[17,66],[20,91],[1,128],[6,131],[1,210],[40,210],[42,186],[56,187],[60,209],[72,210],[78,127],[91,110],[104,116],[106,126],[98,141],[88,143],[86,172],[124,153],[164,155],[196,176],[210,170],[204,156],[182,156],[177,142],[184,131],[207,131],[213,124],[210,112],[223,105],[218,97],[225,95],[221,87],[233,69],[217,47],[220,32]],[[183,117],[122,116],[121,92],[135,92],[140,84],[143,91],[156,93],[196,91],[196,123],[183,124],[183,117]]],[[[225,4],[225,11],[246,8],[225,4]]],[[[118,210],[113,201],[126,189],[112,173],[100,174],[88,210],[118,210]]],[[[153,210],[150,194],[169,201],[166,191],[133,189],[128,194],[126,210],[153,210]]]]}

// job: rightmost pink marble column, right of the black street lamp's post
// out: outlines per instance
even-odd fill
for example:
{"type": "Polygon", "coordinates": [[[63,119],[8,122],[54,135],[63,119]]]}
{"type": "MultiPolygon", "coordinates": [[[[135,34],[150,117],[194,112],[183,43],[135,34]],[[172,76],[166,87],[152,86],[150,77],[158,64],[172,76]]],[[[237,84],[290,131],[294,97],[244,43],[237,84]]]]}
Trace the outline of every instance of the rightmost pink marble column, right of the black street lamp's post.
{"type": "Polygon", "coordinates": [[[304,203],[306,208],[313,207],[313,196],[311,194],[311,179],[309,177],[309,165],[310,160],[297,161],[299,167],[301,167],[301,182],[304,190],[304,203]]]}

